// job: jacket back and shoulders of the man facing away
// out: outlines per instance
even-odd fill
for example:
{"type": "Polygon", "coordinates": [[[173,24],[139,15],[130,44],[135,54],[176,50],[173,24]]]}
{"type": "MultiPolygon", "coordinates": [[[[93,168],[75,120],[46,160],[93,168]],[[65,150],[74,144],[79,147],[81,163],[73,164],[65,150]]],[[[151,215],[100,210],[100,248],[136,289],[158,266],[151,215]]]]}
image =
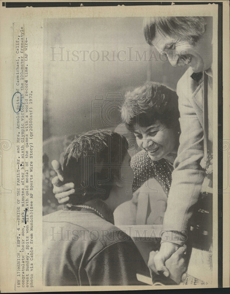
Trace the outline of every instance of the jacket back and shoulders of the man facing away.
{"type": "Polygon", "coordinates": [[[95,213],[43,217],[45,285],[135,285],[137,268],[144,267],[133,240],[95,213]]]}

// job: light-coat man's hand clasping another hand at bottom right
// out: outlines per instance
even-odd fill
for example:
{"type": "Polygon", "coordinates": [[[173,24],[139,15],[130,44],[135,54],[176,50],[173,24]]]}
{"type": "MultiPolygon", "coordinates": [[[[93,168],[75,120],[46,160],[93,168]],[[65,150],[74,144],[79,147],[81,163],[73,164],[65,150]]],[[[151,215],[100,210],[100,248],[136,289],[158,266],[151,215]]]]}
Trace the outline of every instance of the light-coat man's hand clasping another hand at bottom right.
{"type": "Polygon", "coordinates": [[[177,251],[179,245],[171,242],[163,242],[160,246],[160,251],[155,254],[155,251],[150,252],[148,260],[148,268],[159,274],[159,271],[162,271],[165,277],[170,275],[168,268],[165,266],[165,261],[168,260],[174,252],[177,251]]]}

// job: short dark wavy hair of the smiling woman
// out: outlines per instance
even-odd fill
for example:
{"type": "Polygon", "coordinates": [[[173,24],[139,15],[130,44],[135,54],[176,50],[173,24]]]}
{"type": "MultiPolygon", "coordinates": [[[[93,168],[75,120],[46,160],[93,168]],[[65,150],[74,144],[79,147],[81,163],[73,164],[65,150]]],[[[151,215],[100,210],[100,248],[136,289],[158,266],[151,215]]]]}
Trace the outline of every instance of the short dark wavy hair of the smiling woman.
{"type": "Polygon", "coordinates": [[[160,121],[180,132],[178,96],[175,91],[156,82],[146,82],[125,94],[121,117],[128,128],[148,127],[160,121]]]}

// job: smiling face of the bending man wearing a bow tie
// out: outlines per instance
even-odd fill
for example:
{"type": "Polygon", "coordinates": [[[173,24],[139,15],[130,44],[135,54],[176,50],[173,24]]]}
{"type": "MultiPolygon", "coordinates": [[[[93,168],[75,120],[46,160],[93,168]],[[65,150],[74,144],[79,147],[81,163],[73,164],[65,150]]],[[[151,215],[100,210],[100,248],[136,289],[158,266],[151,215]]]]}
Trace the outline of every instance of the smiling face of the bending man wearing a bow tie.
{"type": "Polygon", "coordinates": [[[188,65],[195,73],[207,70],[212,64],[212,46],[208,43],[205,37],[201,37],[192,45],[188,41],[164,36],[158,30],[152,40],[153,46],[159,53],[167,55],[172,66],[188,65]]]}

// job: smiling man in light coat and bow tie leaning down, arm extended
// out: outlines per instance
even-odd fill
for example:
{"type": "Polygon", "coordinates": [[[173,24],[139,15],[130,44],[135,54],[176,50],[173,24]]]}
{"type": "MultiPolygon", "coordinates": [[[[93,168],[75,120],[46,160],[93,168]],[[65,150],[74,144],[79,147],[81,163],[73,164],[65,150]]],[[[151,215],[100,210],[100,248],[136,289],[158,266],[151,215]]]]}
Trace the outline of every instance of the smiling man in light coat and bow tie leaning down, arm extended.
{"type": "Polygon", "coordinates": [[[212,18],[147,18],[143,29],[148,44],[167,55],[172,66],[189,66],[177,83],[180,147],[174,162],[164,233],[159,253],[154,258],[150,254],[148,264],[155,272],[163,270],[168,275],[165,261],[185,243],[205,171],[209,174],[207,186],[212,180],[212,18]]]}

